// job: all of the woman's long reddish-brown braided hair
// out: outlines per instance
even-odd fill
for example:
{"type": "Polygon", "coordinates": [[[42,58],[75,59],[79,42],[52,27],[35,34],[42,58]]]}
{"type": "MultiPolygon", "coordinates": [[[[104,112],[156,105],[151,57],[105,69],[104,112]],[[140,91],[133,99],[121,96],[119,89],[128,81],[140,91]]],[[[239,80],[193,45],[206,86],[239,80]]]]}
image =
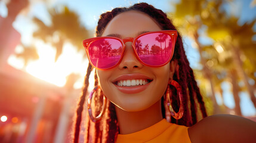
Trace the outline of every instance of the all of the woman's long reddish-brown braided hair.
{"type": "MultiPolygon", "coordinates": [[[[107,26],[110,20],[112,20],[116,15],[124,13],[125,11],[141,11],[150,17],[152,17],[155,21],[158,22],[159,26],[162,27],[162,30],[176,30],[175,26],[171,23],[171,21],[167,18],[167,15],[161,11],[153,7],[152,5],[146,4],[146,3],[140,3],[132,5],[128,8],[115,8],[112,11],[109,11],[107,13],[100,15],[100,20],[98,21],[98,26],[96,28],[96,36],[101,36],[104,32],[104,28],[107,26]]],[[[163,117],[167,118],[169,117],[171,120],[171,123],[176,123],[178,125],[184,125],[184,126],[192,126],[196,122],[198,122],[197,119],[197,108],[196,108],[196,101],[199,104],[200,111],[202,113],[202,117],[206,117],[206,110],[205,105],[203,102],[202,95],[200,94],[199,88],[197,86],[193,70],[189,66],[189,61],[187,60],[184,47],[183,47],[183,41],[178,33],[177,41],[175,43],[175,50],[174,55],[172,57],[172,60],[177,61],[177,68],[175,69],[175,73],[173,76],[173,79],[176,80],[180,85],[182,89],[183,99],[182,104],[184,105],[184,114],[183,117],[179,120],[174,119],[173,117],[170,117],[165,109],[164,102],[162,102],[162,114],[163,117]]],[[[85,102],[85,97],[87,95],[87,88],[88,88],[88,79],[91,73],[91,65],[89,64],[87,69],[87,74],[85,77],[85,86],[83,90],[82,97],[80,98],[78,108],[76,111],[76,122],[75,122],[75,136],[73,139],[73,142],[78,142],[79,138],[79,131],[80,131],[80,125],[81,125],[81,117],[82,117],[82,110],[83,105],[85,102]]],[[[94,85],[98,85],[98,79],[97,76],[95,78],[94,85]]],[[[171,89],[172,93],[172,100],[174,103],[172,103],[172,107],[175,111],[178,111],[178,108],[180,107],[179,99],[177,95],[177,92],[175,92],[175,89],[171,89]]],[[[101,110],[101,104],[102,104],[102,97],[103,92],[98,92],[99,94],[95,95],[95,98],[92,99],[92,102],[94,102],[94,113],[98,114],[98,112],[101,110]]],[[[163,99],[162,99],[163,101],[163,99]]],[[[118,120],[116,117],[115,112],[115,105],[112,104],[112,102],[107,101],[107,107],[106,111],[103,115],[103,118],[96,123],[93,123],[90,121],[90,118],[88,114],[85,117],[85,142],[115,142],[116,136],[118,135],[119,128],[118,128],[118,120]]]]}

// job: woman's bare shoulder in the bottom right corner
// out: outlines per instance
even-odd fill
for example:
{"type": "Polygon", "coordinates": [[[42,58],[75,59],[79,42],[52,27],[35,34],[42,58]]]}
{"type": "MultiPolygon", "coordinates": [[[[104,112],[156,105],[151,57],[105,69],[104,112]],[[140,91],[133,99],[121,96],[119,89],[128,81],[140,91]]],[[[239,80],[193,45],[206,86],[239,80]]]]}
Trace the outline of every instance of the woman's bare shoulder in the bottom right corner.
{"type": "Polygon", "coordinates": [[[229,114],[206,117],[189,128],[192,142],[255,142],[256,122],[229,114]]]}

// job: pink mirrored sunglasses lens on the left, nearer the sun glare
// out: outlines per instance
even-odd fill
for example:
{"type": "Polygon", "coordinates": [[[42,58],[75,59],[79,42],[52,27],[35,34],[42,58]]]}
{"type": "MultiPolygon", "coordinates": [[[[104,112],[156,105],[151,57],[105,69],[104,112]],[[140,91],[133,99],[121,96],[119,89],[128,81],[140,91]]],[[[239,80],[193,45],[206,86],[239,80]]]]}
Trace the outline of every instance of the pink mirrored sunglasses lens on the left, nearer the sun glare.
{"type": "Polygon", "coordinates": [[[115,66],[121,58],[122,43],[116,39],[104,38],[91,43],[88,48],[91,63],[99,69],[115,66]]]}

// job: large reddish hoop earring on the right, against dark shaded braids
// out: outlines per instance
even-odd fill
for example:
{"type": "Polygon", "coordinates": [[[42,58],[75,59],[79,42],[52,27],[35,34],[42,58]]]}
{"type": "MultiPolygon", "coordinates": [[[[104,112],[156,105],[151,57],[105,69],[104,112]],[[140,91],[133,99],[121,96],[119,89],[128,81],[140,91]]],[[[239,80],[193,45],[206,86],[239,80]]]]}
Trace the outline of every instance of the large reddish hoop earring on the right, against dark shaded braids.
{"type": "Polygon", "coordinates": [[[171,116],[174,117],[176,120],[178,119],[181,119],[181,117],[183,116],[183,113],[184,113],[184,108],[183,108],[183,104],[182,104],[182,94],[181,94],[181,86],[178,84],[178,82],[176,82],[175,80],[172,80],[171,83],[168,82],[168,86],[167,86],[167,89],[166,89],[166,92],[165,92],[165,100],[167,102],[167,107],[171,113],[171,116]],[[169,86],[172,85],[176,88],[177,90],[177,94],[178,94],[178,97],[180,99],[180,108],[178,110],[178,113],[176,113],[174,111],[174,109],[172,108],[172,100],[170,98],[170,94],[169,94],[169,86]]]}

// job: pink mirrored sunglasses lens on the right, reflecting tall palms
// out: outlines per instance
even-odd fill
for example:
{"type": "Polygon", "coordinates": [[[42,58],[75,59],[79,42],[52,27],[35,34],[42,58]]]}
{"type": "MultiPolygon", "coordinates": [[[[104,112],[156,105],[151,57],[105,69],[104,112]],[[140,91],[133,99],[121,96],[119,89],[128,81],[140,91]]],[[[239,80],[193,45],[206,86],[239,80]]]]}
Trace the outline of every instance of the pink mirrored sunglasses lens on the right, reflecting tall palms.
{"type": "Polygon", "coordinates": [[[149,33],[135,41],[135,50],[143,63],[161,66],[171,58],[172,38],[166,33],[149,33]]]}

